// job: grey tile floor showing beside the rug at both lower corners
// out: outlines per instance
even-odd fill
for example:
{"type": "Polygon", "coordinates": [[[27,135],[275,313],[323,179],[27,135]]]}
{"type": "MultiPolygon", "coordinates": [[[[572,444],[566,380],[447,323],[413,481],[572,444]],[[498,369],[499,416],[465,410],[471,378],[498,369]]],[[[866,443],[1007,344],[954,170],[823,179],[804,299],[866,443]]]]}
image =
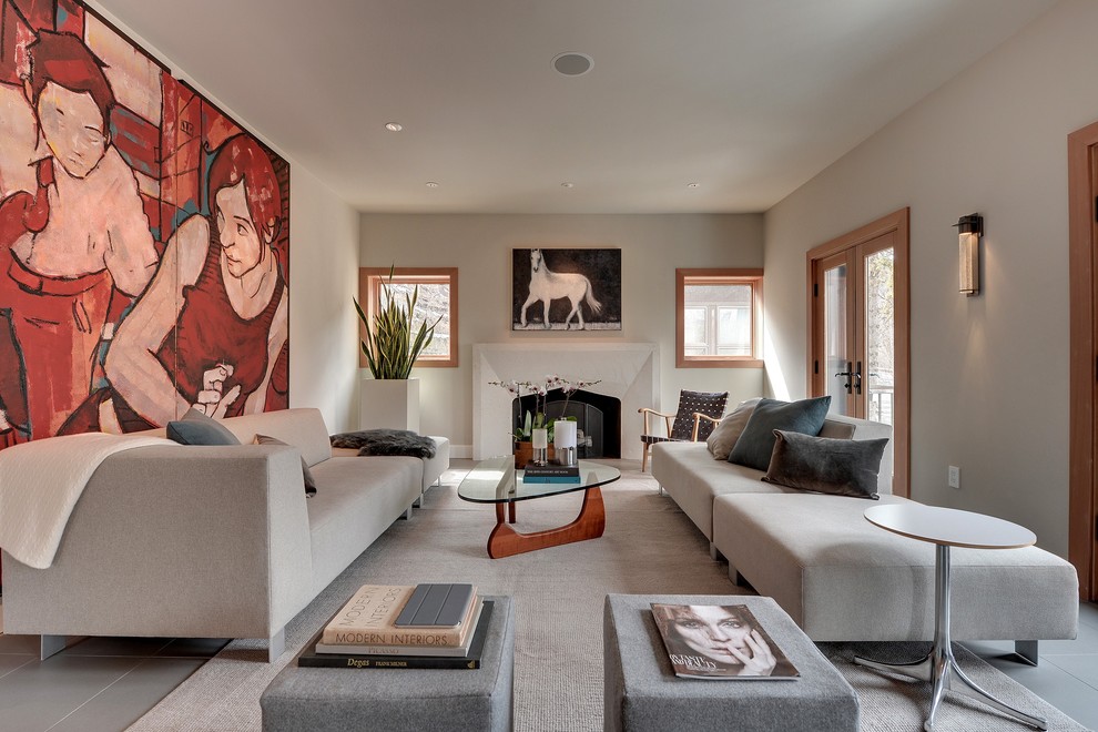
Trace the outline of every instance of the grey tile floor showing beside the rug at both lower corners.
{"type": "MultiPolygon", "coordinates": [[[[224,640],[87,639],[39,661],[37,638],[0,634],[0,730],[113,732],[213,657],[224,640]]],[[[1098,606],[1079,609],[1079,637],[1043,641],[1040,663],[1010,660],[1009,642],[970,650],[1079,723],[1098,730],[1098,606]]]]}

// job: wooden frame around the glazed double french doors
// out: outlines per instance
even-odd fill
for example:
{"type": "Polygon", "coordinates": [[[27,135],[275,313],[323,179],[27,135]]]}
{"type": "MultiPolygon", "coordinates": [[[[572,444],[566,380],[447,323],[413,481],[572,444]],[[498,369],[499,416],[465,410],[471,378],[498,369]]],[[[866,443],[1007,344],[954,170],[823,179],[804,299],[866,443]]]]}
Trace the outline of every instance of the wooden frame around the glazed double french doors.
{"type": "Polygon", "coordinates": [[[812,358],[823,334],[816,328],[812,314],[812,283],[815,263],[827,256],[864,244],[884,234],[895,234],[896,281],[895,281],[895,367],[896,387],[895,413],[893,416],[893,494],[911,495],[911,209],[904,207],[887,216],[877,218],[864,226],[843,234],[830,242],[809,250],[805,256],[807,272],[807,389],[814,394],[812,358]],[[903,387],[901,389],[901,387],[903,387]],[[901,449],[899,446],[903,446],[901,449]]]}

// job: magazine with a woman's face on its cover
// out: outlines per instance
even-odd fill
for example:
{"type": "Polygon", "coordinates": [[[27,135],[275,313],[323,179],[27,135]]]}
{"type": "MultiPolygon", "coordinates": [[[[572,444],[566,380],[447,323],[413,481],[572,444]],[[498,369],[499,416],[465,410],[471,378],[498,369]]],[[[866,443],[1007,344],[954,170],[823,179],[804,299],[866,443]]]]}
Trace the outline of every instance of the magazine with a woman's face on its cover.
{"type": "Polygon", "coordinates": [[[745,604],[652,603],[677,677],[795,679],[801,675],[745,604]]]}

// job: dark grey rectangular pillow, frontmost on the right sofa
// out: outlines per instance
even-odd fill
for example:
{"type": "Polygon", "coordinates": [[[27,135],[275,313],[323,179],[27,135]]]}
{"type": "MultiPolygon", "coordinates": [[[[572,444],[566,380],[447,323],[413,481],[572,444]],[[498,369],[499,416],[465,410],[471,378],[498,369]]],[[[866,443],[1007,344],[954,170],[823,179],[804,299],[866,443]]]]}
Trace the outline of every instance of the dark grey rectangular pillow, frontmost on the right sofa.
{"type": "Polygon", "coordinates": [[[834,439],[774,430],[763,480],[835,496],[877,499],[877,472],[888,438],[834,439]]]}

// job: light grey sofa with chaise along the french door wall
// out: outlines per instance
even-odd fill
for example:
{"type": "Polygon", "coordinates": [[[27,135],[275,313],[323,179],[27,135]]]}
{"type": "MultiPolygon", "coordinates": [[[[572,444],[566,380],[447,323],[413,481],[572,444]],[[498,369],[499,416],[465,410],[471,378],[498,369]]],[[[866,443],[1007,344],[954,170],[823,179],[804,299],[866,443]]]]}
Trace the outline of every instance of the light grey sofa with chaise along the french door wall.
{"type": "MultiPolygon", "coordinates": [[[[828,416],[824,437],[891,438],[887,425],[828,416]]],[[[931,543],[871,525],[863,498],[807,494],[763,482],[762,471],[715,460],[704,443],[664,443],[652,475],[710,539],[729,577],[774,598],[815,641],[929,640],[934,632],[931,543]]],[[[892,495],[891,449],[881,502],[892,495]]],[[[1014,640],[1036,662],[1037,641],[1075,638],[1079,584],[1053,553],[954,549],[953,637],[1014,640]],[[1039,600],[1037,600],[1039,598],[1039,600]]]]}

